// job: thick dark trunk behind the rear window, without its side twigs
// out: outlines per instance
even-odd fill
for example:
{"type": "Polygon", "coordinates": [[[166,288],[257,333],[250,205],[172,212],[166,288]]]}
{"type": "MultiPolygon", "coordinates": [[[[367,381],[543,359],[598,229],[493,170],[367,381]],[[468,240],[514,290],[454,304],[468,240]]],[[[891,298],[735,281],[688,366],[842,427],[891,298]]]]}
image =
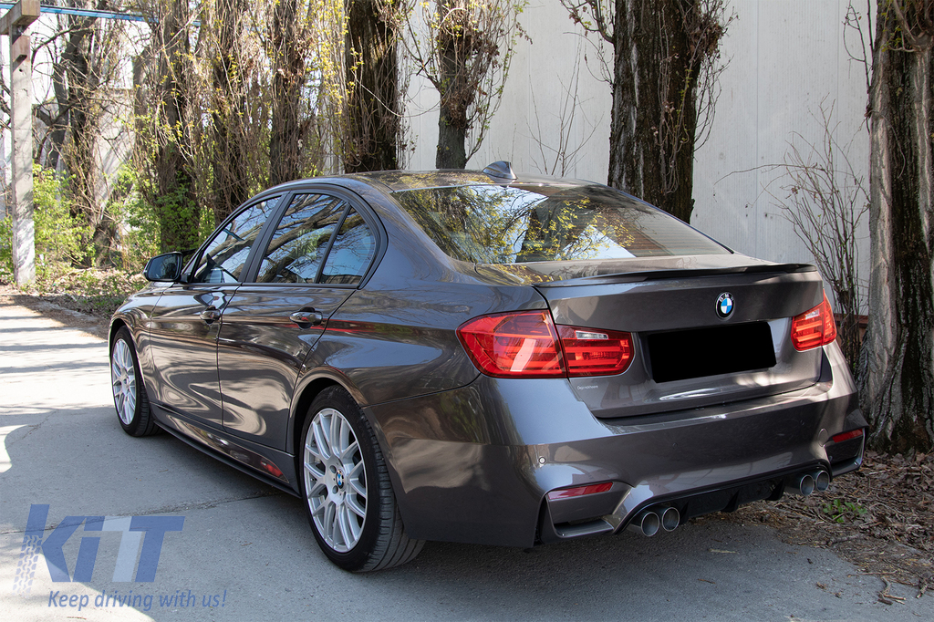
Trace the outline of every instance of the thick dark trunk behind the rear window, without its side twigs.
{"type": "Polygon", "coordinates": [[[686,222],[701,55],[685,24],[700,10],[698,0],[616,0],[614,24],[608,183],[686,222]]]}

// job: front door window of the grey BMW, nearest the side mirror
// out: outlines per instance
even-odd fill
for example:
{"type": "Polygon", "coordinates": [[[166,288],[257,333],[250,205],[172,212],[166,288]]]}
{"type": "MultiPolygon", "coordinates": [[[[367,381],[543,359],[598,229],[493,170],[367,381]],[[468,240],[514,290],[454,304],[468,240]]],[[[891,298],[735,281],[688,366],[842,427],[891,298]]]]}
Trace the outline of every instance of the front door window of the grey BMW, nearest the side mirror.
{"type": "Polygon", "coordinates": [[[239,283],[249,250],[279,197],[249,205],[221,227],[194,269],[193,283],[239,283]]]}

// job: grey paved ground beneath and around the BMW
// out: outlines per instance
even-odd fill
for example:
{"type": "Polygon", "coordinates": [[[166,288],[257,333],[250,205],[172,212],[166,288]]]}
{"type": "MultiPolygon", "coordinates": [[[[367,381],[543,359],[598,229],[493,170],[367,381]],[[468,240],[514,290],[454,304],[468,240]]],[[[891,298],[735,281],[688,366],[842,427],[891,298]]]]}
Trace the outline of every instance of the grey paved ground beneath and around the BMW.
{"type": "Polygon", "coordinates": [[[886,606],[881,587],[832,552],[722,521],[529,551],[429,543],[402,568],[344,573],[297,500],[167,434],[125,435],[104,341],[0,305],[3,620],[934,619],[934,597],[896,587],[905,603],[886,606]],[[134,543],[134,516],[163,526],[161,548],[134,543]],[[158,516],[184,516],[181,530],[158,516]],[[53,582],[48,558],[73,580],[53,582]],[[114,580],[144,567],[154,581],[114,580]]]}

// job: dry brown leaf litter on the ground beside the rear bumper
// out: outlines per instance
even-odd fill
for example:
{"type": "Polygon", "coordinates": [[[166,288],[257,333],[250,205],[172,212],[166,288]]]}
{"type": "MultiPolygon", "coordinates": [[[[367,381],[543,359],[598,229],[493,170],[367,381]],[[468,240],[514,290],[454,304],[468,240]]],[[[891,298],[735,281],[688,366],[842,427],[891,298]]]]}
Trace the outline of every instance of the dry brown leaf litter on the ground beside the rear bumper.
{"type": "Polygon", "coordinates": [[[780,502],[747,505],[729,520],[766,523],[789,544],[832,548],[843,558],[891,582],[934,588],[934,455],[866,452],[862,468],[833,480],[827,492],[785,495],[780,502]]]}

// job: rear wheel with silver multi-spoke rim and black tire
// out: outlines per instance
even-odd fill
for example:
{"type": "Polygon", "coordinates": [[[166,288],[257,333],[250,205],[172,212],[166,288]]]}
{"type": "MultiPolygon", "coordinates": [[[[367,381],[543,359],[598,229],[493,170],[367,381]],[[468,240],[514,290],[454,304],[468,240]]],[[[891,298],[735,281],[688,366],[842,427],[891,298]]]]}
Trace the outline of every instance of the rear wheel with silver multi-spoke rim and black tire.
{"type": "Polygon", "coordinates": [[[418,555],[424,541],[405,534],[375,434],[346,390],[329,387],[315,398],[299,456],[308,521],[334,564],[365,573],[418,555]]]}

